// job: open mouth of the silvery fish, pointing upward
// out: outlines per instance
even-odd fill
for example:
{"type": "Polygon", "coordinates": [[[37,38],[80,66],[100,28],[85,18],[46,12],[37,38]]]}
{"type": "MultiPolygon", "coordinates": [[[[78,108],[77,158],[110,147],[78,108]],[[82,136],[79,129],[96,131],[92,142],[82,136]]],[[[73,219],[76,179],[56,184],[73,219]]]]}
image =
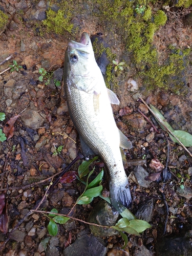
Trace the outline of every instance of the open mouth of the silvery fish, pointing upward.
{"type": "Polygon", "coordinates": [[[83,52],[87,52],[85,49],[92,47],[91,40],[87,32],[83,32],[79,42],[70,40],[68,46],[75,48],[76,50],[80,50],[83,52]],[[83,48],[83,49],[79,49],[83,48]]]}

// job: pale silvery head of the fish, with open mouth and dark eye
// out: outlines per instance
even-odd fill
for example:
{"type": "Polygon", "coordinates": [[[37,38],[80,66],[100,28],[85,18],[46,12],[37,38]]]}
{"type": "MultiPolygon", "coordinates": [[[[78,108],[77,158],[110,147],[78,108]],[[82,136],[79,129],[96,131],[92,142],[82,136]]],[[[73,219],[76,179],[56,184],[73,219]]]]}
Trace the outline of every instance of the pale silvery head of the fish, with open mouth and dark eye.
{"type": "Polygon", "coordinates": [[[65,54],[64,73],[71,85],[79,90],[94,90],[100,69],[95,60],[91,39],[83,32],[79,42],[70,40],[65,54]]]}

